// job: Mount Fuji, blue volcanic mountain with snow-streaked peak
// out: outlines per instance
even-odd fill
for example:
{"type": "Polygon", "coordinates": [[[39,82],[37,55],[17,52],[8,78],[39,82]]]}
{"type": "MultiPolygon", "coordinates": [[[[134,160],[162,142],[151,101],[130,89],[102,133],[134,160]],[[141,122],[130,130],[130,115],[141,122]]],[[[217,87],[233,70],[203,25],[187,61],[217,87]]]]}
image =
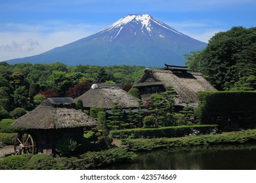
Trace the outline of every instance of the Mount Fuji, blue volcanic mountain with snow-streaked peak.
{"type": "Polygon", "coordinates": [[[184,65],[184,54],[206,46],[148,14],[130,14],[89,37],[7,63],[162,67],[164,63],[184,65]]]}

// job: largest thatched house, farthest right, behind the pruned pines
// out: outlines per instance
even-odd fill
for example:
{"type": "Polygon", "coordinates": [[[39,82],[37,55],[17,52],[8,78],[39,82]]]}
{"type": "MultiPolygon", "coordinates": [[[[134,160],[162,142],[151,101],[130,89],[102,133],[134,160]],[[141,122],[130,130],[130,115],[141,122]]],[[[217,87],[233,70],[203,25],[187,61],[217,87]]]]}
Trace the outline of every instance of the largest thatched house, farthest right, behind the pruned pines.
{"type": "Polygon", "coordinates": [[[177,92],[175,103],[181,106],[187,101],[192,107],[196,106],[197,92],[216,90],[201,73],[192,73],[188,67],[167,64],[163,69],[145,69],[133,87],[139,89],[142,101],[146,101],[153,93],[165,92],[167,85],[173,86],[177,92]]]}

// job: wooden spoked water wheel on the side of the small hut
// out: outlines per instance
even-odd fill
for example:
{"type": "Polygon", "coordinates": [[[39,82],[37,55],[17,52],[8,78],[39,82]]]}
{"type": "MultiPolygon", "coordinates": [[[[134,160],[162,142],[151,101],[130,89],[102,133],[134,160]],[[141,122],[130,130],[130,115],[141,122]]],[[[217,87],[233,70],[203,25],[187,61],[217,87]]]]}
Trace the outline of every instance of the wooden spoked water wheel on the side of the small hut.
{"type": "Polygon", "coordinates": [[[30,133],[18,133],[14,142],[14,153],[15,155],[36,153],[35,140],[30,133]]]}

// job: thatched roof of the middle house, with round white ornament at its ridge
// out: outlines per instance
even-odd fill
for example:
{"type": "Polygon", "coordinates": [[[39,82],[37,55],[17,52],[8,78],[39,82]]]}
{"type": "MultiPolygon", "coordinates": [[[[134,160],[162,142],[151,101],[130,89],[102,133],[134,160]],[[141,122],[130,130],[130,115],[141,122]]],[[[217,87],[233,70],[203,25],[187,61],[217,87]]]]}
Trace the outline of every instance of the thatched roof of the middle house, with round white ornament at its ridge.
{"type": "Polygon", "coordinates": [[[138,99],[125,92],[119,84],[93,84],[91,90],[83,93],[75,100],[81,99],[83,107],[112,108],[117,102],[123,108],[138,107],[138,99]],[[94,89],[93,89],[94,88],[94,89]]]}

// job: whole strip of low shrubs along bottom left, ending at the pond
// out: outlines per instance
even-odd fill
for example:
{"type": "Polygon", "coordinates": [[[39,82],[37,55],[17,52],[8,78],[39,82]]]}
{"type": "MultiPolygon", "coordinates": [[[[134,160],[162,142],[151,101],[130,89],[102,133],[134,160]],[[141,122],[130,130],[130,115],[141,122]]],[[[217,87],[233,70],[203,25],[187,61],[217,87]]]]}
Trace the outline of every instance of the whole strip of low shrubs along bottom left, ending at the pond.
{"type": "Polygon", "coordinates": [[[72,170],[95,169],[110,163],[132,161],[136,157],[127,148],[111,148],[100,152],[87,152],[77,157],[53,158],[49,154],[22,154],[0,159],[0,169],[4,170],[72,170]]]}

